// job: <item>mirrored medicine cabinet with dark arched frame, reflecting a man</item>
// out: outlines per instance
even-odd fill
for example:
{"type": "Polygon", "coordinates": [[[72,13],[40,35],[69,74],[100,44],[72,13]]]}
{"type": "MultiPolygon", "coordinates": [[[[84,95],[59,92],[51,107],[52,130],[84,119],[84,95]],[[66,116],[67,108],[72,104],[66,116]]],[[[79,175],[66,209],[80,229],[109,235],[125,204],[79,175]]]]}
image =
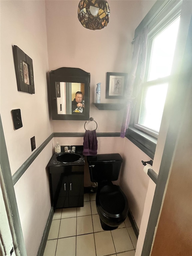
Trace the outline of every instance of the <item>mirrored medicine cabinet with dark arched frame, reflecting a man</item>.
{"type": "Polygon", "coordinates": [[[49,72],[53,120],[88,120],[90,73],[79,68],[49,72]]]}

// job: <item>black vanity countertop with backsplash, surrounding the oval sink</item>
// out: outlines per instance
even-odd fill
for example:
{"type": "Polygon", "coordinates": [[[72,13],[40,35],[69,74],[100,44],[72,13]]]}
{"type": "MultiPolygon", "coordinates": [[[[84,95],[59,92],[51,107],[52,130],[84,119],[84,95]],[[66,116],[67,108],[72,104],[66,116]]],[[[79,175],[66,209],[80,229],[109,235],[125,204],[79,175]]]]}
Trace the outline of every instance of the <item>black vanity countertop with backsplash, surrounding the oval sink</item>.
{"type": "MultiPolygon", "coordinates": [[[[76,147],[75,153],[66,153],[66,152],[64,152],[64,147],[65,146],[61,146],[61,153],[58,153],[58,154],[54,153],[53,154],[51,160],[49,161],[49,164],[47,165],[48,167],[50,167],[50,166],[66,166],[66,165],[84,165],[85,164],[85,158],[82,154],[83,146],[75,146],[76,147]],[[74,162],[70,162],[70,163],[61,163],[61,162],[57,161],[57,157],[59,155],[63,155],[63,154],[79,154],[80,158],[79,158],[79,160],[74,161],[74,162]]],[[[67,147],[69,147],[69,146],[67,146],[67,147]]]]}

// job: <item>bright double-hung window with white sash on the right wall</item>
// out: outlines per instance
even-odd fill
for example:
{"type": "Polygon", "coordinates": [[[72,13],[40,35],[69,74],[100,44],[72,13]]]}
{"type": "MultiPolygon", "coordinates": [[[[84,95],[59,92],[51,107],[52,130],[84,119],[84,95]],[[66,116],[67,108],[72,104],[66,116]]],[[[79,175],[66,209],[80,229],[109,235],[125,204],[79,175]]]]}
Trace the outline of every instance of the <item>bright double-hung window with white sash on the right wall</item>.
{"type": "Polygon", "coordinates": [[[134,127],[158,136],[173,63],[179,17],[148,35],[148,61],[134,127]]]}

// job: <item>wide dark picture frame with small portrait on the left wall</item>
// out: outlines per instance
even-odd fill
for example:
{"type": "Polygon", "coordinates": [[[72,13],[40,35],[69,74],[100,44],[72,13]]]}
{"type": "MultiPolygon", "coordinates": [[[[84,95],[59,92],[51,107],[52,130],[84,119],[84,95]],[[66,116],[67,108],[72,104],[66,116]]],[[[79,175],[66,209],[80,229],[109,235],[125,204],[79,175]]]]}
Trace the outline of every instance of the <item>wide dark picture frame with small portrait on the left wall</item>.
{"type": "Polygon", "coordinates": [[[17,80],[17,90],[34,94],[35,86],[32,59],[16,45],[13,45],[13,58],[17,80]]]}

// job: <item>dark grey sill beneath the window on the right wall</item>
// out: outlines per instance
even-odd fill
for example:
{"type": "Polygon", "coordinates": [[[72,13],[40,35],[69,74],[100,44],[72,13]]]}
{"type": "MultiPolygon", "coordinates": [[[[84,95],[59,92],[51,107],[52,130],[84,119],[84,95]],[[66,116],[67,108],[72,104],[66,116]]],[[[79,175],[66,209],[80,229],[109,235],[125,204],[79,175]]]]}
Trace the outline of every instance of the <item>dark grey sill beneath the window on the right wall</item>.
{"type": "Polygon", "coordinates": [[[134,127],[129,127],[125,135],[126,138],[131,140],[138,148],[140,148],[150,158],[154,158],[155,149],[157,145],[157,138],[146,134],[134,127]]]}

